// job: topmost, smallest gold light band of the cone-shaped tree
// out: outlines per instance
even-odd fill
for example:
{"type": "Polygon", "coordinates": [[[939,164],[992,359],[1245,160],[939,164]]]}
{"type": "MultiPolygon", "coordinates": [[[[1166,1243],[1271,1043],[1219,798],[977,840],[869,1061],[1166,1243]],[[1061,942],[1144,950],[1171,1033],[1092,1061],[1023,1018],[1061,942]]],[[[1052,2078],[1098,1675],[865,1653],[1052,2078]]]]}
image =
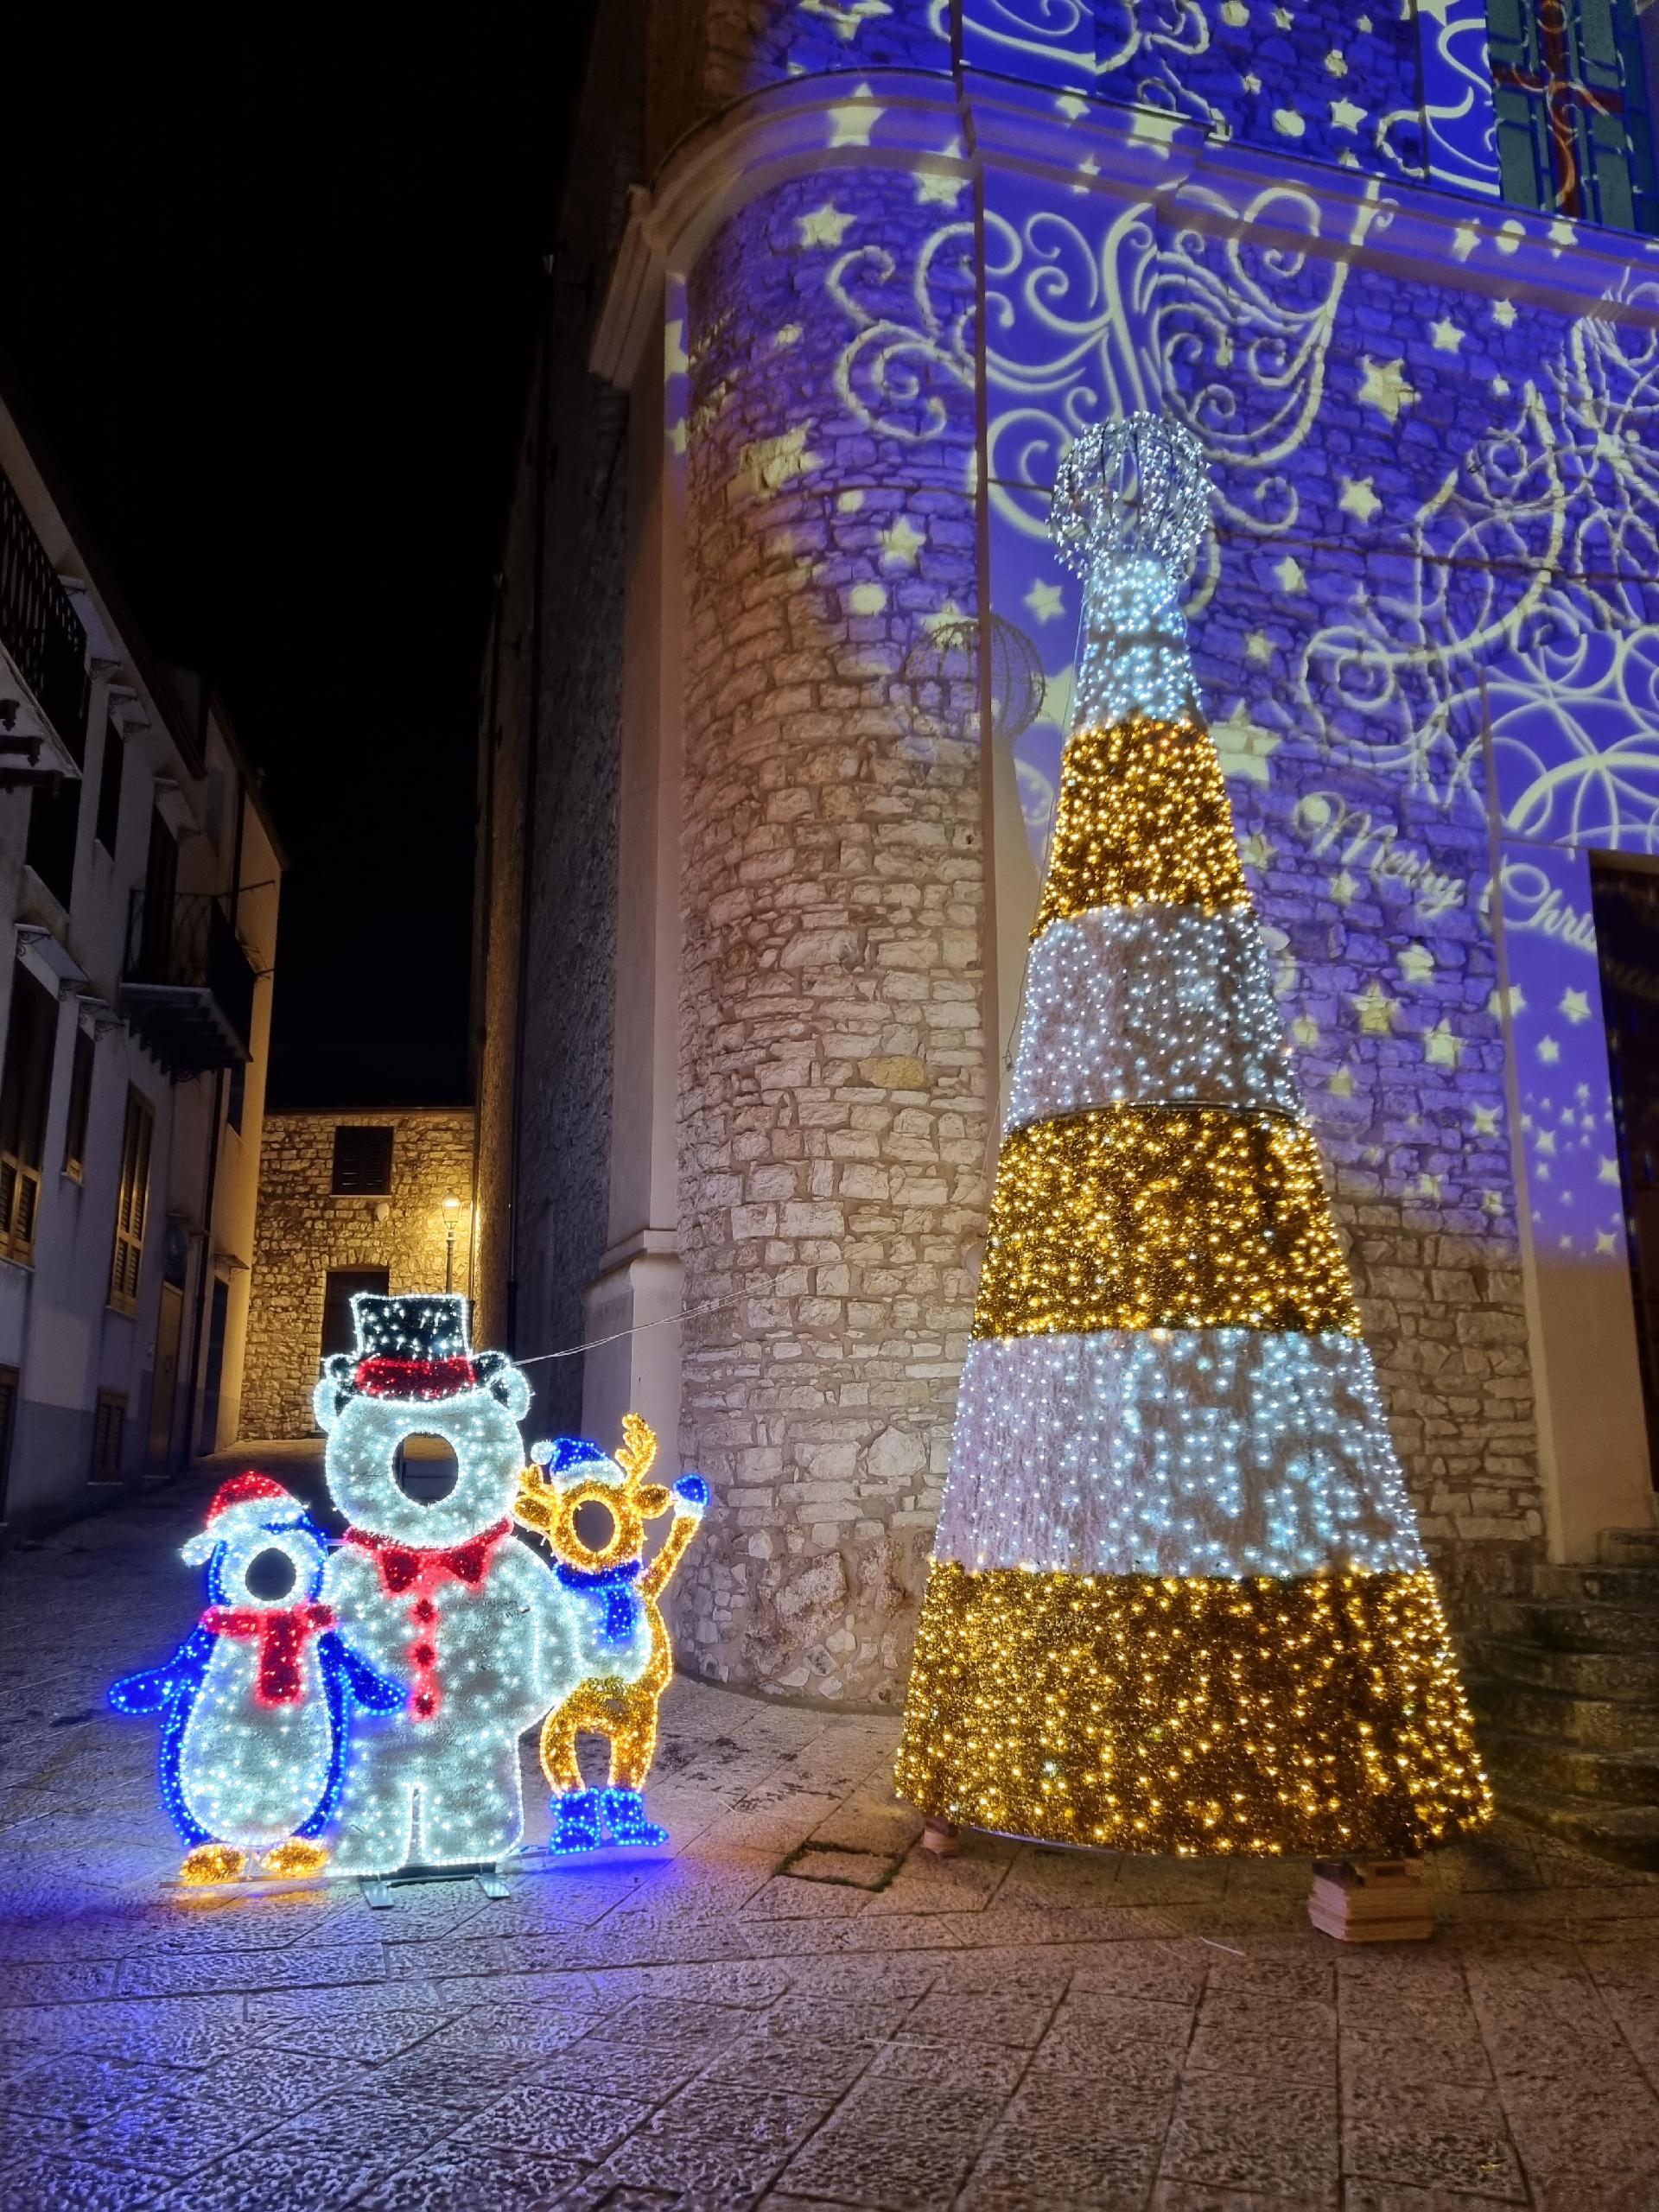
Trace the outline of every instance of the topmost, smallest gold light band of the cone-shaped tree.
{"type": "Polygon", "coordinates": [[[1055,838],[1031,936],[1091,907],[1245,907],[1250,891],[1210,732],[1130,714],[1079,730],[1060,763],[1055,838]]]}

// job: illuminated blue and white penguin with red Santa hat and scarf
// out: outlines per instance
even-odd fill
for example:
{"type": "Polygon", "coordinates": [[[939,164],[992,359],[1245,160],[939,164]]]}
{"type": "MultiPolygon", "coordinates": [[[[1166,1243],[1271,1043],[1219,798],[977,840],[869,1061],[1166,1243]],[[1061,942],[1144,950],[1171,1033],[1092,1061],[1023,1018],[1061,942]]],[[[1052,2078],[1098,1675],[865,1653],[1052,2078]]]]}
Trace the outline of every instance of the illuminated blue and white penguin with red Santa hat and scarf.
{"type": "Polygon", "coordinates": [[[319,1604],[327,1540],[270,1475],[232,1475],[184,1546],[208,1568],[208,1608],[166,1666],[126,1674],[117,1712],[164,1712],[161,1801],[190,1845],[184,1882],[319,1874],[341,1796],[352,1699],[403,1688],[367,1668],[319,1604]]]}

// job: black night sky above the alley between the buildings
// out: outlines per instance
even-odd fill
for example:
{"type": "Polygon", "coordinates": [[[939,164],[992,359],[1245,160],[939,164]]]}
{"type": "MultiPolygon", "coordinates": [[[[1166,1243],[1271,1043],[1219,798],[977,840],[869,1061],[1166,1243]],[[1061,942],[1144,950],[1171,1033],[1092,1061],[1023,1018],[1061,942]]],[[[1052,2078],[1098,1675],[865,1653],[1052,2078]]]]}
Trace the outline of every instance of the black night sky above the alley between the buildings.
{"type": "Polygon", "coordinates": [[[0,345],[263,772],[272,1102],[460,1099],[478,670],[588,11],[206,75],[55,13],[7,33],[0,345]]]}

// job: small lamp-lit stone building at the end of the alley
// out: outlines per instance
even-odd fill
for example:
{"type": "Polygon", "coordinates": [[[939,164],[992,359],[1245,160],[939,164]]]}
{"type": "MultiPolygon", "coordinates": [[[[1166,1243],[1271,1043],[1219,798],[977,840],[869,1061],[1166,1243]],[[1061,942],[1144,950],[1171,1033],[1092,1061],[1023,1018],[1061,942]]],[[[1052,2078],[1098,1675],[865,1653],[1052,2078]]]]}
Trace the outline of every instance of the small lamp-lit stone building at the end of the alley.
{"type": "Polygon", "coordinates": [[[356,1292],[473,1292],[473,1115],[270,1113],[248,1296],[241,1436],[316,1436],[356,1292]]]}

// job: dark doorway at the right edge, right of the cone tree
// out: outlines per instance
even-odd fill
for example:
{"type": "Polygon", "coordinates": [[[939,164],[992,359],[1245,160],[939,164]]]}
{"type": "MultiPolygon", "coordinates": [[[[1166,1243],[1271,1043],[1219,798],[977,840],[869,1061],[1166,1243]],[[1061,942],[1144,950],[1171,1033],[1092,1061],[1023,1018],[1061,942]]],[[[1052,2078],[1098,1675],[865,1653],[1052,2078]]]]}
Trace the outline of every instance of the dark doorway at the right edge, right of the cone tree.
{"type": "Polygon", "coordinates": [[[1659,869],[1590,854],[1648,1467],[1659,1489],[1659,869]]]}

